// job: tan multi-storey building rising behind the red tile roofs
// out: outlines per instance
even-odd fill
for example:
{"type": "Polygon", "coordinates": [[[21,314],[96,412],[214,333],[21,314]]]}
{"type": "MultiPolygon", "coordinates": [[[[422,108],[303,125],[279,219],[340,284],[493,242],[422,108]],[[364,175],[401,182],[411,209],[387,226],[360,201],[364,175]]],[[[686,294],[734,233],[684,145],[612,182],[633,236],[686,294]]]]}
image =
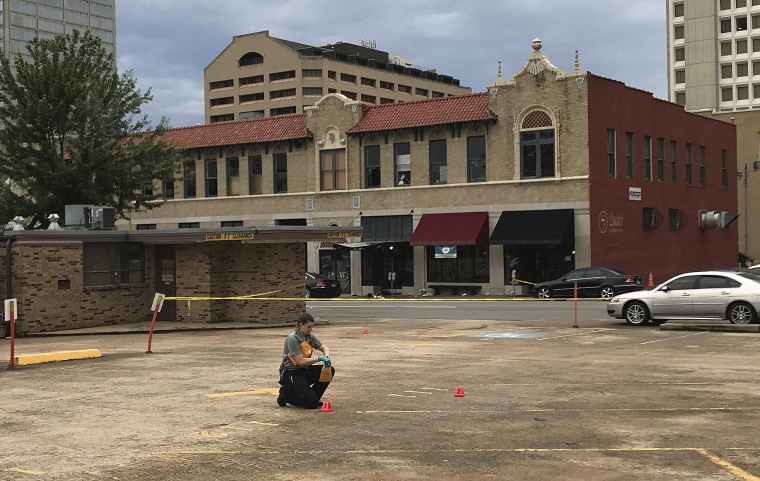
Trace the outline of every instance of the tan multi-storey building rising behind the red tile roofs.
{"type": "Polygon", "coordinates": [[[303,113],[324,95],[371,104],[471,93],[459,80],[370,46],[234,37],[203,73],[206,123],[303,113]]]}

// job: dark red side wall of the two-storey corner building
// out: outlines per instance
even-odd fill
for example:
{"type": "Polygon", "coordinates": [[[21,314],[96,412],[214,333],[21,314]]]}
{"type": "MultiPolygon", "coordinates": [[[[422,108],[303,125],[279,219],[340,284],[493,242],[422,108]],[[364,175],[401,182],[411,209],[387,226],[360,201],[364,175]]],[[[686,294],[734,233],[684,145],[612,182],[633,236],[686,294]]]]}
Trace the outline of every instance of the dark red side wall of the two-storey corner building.
{"type": "Polygon", "coordinates": [[[590,75],[589,182],[591,263],[654,276],[655,284],[682,272],[732,267],[738,262],[738,231],[700,230],[700,209],[737,213],[736,131],[731,124],[686,113],[683,107],[657,100],[648,92],[590,75]],[[617,133],[617,177],[607,175],[607,129],[617,133]],[[634,134],[634,179],[626,178],[625,133],[634,134]],[[644,136],[652,137],[651,181],[644,180],[644,136]],[[657,178],[657,139],[665,139],[665,181],[657,178]],[[677,141],[677,182],[670,179],[670,141],[677,141]],[[692,144],[693,181],[686,185],[686,143],[692,144]],[[706,148],[707,185],[699,184],[699,147],[706,148]],[[728,187],[722,186],[721,150],[728,152],[728,187]],[[641,200],[628,198],[629,187],[641,188],[641,200]],[[643,208],[663,215],[659,228],[643,229],[643,208]],[[670,230],[668,212],[687,216],[681,230],[670,230]],[[600,216],[607,219],[605,232],[600,216]]]}

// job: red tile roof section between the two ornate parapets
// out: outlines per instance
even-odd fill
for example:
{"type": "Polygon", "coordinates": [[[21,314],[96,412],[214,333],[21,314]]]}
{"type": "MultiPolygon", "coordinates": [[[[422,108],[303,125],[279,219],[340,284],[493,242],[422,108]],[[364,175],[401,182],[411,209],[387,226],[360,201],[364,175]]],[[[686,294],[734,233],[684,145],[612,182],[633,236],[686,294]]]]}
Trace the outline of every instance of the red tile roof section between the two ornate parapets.
{"type": "Polygon", "coordinates": [[[357,134],[478,120],[496,120],[496,116],[488,110],[487,93],[368,106],[364,108],[362,120],[351,127],[348,133],[357,134]]]}

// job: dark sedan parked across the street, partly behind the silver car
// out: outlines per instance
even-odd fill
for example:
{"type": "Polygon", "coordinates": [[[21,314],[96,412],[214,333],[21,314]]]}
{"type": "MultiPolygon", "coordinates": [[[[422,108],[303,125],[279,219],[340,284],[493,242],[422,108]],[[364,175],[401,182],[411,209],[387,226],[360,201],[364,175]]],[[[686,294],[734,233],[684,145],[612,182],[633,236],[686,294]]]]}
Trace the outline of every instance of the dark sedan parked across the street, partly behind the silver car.
{"type": "Polygon", "coordinates": [[[559,279],[536,284],[533,293],[540,299],[574,297],[576,283],[578,297],[601,297],[607,300],[615,294],[644,289],[641,276],[632,276],[606,267],[582,267],[559,279]]]}

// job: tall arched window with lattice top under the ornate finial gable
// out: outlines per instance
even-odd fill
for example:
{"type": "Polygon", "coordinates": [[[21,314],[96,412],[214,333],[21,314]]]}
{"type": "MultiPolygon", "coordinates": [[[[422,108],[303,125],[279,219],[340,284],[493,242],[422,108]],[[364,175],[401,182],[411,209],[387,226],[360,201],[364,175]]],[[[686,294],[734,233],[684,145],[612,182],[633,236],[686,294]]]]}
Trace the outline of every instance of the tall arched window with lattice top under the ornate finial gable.
{"type": "Polygon", "coordinates": [[[528,113],[520,124],[520,178],[555,176],[554,122],[543,110],[528,113]]]}

